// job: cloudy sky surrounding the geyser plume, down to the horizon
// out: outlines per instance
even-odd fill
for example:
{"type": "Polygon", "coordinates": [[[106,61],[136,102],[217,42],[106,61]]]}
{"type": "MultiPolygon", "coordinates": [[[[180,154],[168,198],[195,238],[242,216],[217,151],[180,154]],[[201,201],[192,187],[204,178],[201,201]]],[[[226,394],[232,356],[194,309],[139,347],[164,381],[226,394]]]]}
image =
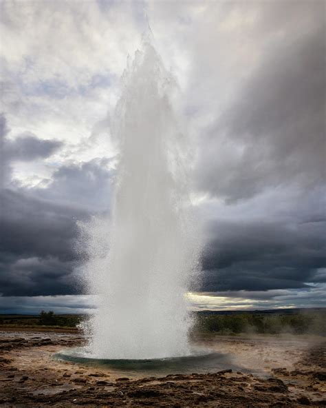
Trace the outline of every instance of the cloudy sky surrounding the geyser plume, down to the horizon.
{"type": "Polygon", "coordinates": [[[78,221],[109,214],[111,116],[151,27],[204,228],[191,309],[326,306],[325,2],[0,2],[0,312],[85,313],[78,221]]]}

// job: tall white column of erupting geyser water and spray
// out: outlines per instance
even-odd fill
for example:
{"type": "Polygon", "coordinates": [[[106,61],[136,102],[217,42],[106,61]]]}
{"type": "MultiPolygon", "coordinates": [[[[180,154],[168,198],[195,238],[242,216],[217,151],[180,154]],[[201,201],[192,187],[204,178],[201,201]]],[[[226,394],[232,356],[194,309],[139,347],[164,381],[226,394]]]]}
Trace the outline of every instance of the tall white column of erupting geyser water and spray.
{"type": "Polygon", "coordinates": [[[190,354],[184,295],[198,265],[184,159],[173,112],[175,80],[151,41],[122,77],[113,132],[119,163],[111,221],[83,225],[85,265],[96,312],[88,323],[96,358],[148,359],[190,354]]]}

